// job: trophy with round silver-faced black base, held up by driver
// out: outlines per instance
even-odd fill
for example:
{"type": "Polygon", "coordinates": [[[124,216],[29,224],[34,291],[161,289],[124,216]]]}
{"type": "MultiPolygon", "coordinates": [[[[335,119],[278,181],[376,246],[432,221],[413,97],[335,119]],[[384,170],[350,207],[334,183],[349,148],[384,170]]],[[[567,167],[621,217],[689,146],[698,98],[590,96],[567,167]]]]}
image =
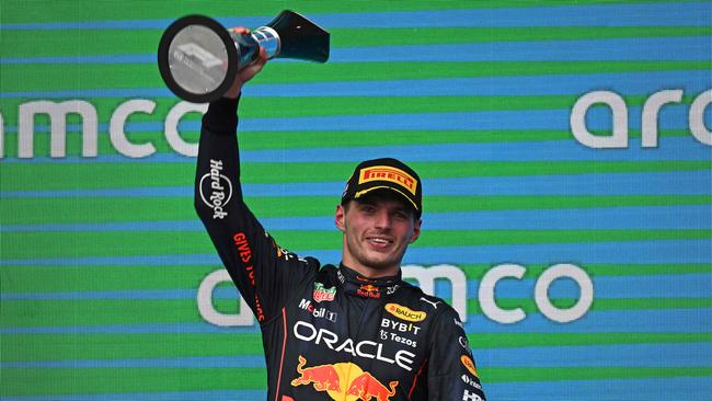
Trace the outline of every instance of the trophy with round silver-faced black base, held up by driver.
{"type": "Polygon", "coordinates": [[[158,66],[161,78],[179,98],[206,103],[230,89],[238,71],[259,57],[260,47],[269,59],[326,62],[329,32],[289,10],[249,35],[229,32],[205,15],[186,15],[163,33],[158,66]]]}

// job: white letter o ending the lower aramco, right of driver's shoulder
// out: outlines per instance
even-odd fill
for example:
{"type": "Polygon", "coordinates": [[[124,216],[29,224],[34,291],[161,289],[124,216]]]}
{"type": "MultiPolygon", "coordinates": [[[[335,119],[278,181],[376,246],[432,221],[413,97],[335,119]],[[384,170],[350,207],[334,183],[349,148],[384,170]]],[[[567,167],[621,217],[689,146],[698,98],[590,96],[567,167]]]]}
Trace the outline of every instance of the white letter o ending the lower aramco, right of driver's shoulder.
{"type": "Polygon", "coordinates": [[[558,264],[546,270],[537,280],[535,300],[543,316],[555,322],[567,323],[582,318],[594,303],[594,283],[583,268],[573,264],[558,264]],[[559,309],[549,300],[549,286],[562,277],[572,278],[581,288],[576,305],[570,309],[559,309]]]}

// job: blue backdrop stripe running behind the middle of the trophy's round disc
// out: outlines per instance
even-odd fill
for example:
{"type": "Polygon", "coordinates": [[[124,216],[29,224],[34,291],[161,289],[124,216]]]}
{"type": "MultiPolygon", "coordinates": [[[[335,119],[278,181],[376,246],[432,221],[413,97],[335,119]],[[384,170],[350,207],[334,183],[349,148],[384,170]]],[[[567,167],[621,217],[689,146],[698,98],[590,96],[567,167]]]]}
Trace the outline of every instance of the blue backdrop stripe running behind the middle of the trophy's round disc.
{"type": "MultiPolygon", "coordinates": [[[[710,36],[335,48],[329,62],[705,60],[710,36]]],[[[154,54],[0,58],[0,65],[156,64],[154,54]]]]}

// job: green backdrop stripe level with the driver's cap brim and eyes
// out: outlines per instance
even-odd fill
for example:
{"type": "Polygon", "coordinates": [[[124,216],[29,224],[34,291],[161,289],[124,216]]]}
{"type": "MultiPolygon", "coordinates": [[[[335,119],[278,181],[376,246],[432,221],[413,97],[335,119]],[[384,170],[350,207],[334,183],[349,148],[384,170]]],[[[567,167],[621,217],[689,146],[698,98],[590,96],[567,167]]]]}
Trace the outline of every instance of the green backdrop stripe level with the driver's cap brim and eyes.
{"type": "MultiPolygon", "coordinates": [[[[187,183],[175,183],[175,185],[187,185],[187,183]]],[[[135,197],[4,198],[0,208],[0,221],[3,226],[171,220],[197,222],[190,191],[186,191],[185,197],[145,197],[140,200],[141,207],[127,207],[135,203],[135,197]],[[38,213],[38,210],[50,209],[61,210],[61,214],[38,213]]],[[[321,216],[331,220],[338,197],[337,195],[246,197],[246,203],[260,218],[321,216]]],[[[423,217],[427,224],[433,218],[430,214],[434,213],[685,205],[712,205],[712,195],[427,196],[424,199],[423,217]]]]}

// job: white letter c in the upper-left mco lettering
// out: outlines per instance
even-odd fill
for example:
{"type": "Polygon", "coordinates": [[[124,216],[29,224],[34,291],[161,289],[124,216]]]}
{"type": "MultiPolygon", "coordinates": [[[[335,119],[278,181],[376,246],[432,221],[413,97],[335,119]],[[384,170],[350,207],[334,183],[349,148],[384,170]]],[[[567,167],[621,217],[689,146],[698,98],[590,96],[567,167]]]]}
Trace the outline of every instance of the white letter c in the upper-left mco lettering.
{"type": "Polygon", "coordinates": [[[108,138],[119,153],[129,158],[145,158],[156,153],[156,147],[150,142],[131,144],[126,138],[126,131],[124,130],[126,119],[130,114],[138,112],[151,114],[153,110],[156,110],[156,102],[145,99],[130,100],[116,107],[108,123],[108,138]]]}

